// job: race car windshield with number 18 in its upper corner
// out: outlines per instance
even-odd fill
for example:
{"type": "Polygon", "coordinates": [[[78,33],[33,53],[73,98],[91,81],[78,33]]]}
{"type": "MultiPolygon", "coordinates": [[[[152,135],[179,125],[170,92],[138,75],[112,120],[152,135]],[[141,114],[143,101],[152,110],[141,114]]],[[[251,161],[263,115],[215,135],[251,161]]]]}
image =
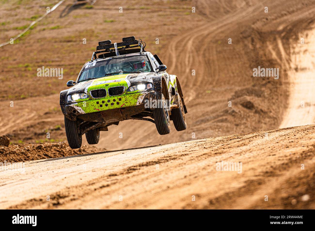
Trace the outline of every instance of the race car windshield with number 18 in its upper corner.
{"type": "Polygon", "coordinates": [[[152,72],[151,64],[146,55],[111,58],[104,61],[88,63],[78,81],[97,79],[106,75],[133,72],[152,72]]]}

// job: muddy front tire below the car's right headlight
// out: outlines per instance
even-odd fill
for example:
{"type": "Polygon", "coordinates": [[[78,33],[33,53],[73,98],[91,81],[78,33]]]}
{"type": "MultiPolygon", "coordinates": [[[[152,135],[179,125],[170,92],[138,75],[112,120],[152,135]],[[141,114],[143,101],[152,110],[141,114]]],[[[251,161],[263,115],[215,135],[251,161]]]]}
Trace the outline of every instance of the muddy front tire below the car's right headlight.
{"type": "MultiPolygon", "coordinates": [[[[167,102],[163,94],[161,94],[160,100],[162,100],[162,108],[155,108],[153,110],[153,118],[155,126],[160,135],[166,135],[170,132],[170,118],[167,107],[167,102]]],[[[160,104],[158,104],[160,106],[160,104]]]]}

